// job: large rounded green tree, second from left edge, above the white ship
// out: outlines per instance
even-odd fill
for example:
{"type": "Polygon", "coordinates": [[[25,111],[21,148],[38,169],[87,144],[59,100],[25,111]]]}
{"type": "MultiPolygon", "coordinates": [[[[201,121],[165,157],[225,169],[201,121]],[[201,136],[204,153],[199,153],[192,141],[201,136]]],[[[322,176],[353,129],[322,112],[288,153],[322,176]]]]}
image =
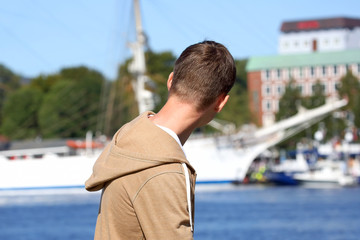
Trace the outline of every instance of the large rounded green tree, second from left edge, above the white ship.
{"type": "Polygon", "coordinates": [[[104,81],[99,72],[86,67],[62,69],[39,110],[43,137],[75,138],[96,132],[104,81]]]}

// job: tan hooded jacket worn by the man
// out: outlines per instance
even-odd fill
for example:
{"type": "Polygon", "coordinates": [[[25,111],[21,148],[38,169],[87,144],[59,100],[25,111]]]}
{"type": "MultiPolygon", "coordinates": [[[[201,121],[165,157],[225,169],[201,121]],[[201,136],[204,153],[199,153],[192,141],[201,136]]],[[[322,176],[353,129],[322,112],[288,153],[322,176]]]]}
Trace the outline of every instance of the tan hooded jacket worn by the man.
{"type": "Polygon", "coordinates": [[[86,181],[89,191],[103,189],[95,239],[193,239],[181,164],[186,163],[190,175],[192,216],[195,170],[149,114],[114,135],[86,181]]]}

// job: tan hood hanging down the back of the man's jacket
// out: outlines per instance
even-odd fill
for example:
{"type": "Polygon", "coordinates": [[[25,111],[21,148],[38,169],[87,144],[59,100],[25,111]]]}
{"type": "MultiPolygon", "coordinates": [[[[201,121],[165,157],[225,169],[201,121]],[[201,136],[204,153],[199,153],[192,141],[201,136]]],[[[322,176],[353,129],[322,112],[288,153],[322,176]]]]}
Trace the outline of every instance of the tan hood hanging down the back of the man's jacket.
{"type": "Polygon", "coordinates": [[[87,190],[97,191],[108,181],[168,163],[186,163],[193,169],[176,140],[156,126],[150,114],[154,113],[143,113],[115,133],[94,164],[87,190]]]}

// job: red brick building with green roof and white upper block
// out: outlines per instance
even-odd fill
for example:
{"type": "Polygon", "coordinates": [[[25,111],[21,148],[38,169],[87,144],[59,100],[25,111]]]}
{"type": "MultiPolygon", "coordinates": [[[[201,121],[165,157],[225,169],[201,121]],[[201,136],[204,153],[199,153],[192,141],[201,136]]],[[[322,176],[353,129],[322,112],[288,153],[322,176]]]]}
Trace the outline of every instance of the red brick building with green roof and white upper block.
{"type": "Polygon", "coordinates": [[[275,121],[279,99],[290,79],[303,96],[317,81],[329,97],[348,69],[360,78],[360,19],[328,18],[284,22],[279,55],[251,57],[246,66],[250,110],[257,124],[275,121]]]}

